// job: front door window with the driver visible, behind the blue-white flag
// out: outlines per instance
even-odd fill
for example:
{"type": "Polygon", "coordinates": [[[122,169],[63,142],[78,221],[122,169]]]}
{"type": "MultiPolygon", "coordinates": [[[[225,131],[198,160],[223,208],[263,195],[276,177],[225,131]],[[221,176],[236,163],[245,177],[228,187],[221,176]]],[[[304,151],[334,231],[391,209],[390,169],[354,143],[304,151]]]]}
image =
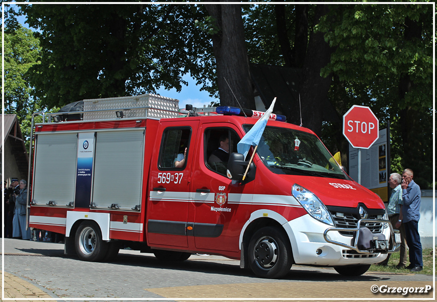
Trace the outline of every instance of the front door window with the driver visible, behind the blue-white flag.
{"type": "Polygon", "coordinates": [[[210,170],[225,175],[229,154],[237,152],[238,134],[231,128],[209,128],[205,130],[205,164],[210,170]]]}

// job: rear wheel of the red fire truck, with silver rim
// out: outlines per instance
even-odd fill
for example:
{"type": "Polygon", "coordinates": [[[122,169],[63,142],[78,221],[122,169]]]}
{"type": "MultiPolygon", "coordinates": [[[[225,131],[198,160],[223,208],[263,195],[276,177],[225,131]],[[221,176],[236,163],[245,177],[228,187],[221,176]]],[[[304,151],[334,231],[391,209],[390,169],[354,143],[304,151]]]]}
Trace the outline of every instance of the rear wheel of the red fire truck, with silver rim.
{"type": "Polygon", "coordinates": [[[108,243],[101,238],[98,224],[92,220],[83,221],[76,231],[76,254],[83,261],[102,261],[108,250],[108,243]]]}

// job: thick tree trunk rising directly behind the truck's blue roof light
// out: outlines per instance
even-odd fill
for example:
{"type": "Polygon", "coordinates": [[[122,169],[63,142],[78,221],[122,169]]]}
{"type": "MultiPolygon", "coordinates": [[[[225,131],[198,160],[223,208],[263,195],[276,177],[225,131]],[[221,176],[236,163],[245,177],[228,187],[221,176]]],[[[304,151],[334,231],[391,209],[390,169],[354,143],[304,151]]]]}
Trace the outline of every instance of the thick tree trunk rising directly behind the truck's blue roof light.
{"type": "Polygon", "coordinates": [[[255,109],[241,6],[212,4],[205,5],[205,8],[219,29],[212,35],[212,48],[217,66],[220,104],[240,107],[239,102],[243,108],[255,109]]]}

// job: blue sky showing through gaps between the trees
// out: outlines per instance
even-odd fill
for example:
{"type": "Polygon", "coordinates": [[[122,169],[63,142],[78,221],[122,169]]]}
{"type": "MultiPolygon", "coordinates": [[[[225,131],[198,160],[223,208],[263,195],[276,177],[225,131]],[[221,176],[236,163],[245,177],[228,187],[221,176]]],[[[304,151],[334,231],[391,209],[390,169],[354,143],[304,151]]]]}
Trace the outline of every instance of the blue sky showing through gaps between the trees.
{"type": "MultiPolygon", "coordinates": [[[[29,25],[25,23],[26,17],[18,17],[18,22],[26,28],[29,25]]],[[[208,106],[211,102],[217,101],[217,99],[209,97],[209,93],[206,91],[200,91],[200,86],[196,85],[196,81],[189,75],[185,74],[184,81],[188,82],[188,86],[183,85],[181,92],[177,92],[176,89],[166,90],[163,87],[156,89],[156,93],[172,99],[179,100],[179,108],[185,108],[186,104],[191,104],[193,107],[208,106]]]]}

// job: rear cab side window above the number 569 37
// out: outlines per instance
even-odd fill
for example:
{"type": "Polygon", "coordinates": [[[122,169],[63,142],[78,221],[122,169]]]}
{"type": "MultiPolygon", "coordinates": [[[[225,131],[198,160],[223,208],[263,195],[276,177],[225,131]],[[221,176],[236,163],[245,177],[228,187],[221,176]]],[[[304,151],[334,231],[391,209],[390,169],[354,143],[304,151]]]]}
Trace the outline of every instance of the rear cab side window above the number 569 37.
{"type": "Polygon", "coordinates": [[[170,127],[162,134],[161,148],[159,151],[159,168],[165,170],[185,169],[189,152],[191,128],[170,127]],[[187,152],[185,154],[185,148],[187,152]],[[185,154],[185,157],[184,157],[185,154]],[[182,167],[176,168],[177,162],[182,162],[182,167]]]}

